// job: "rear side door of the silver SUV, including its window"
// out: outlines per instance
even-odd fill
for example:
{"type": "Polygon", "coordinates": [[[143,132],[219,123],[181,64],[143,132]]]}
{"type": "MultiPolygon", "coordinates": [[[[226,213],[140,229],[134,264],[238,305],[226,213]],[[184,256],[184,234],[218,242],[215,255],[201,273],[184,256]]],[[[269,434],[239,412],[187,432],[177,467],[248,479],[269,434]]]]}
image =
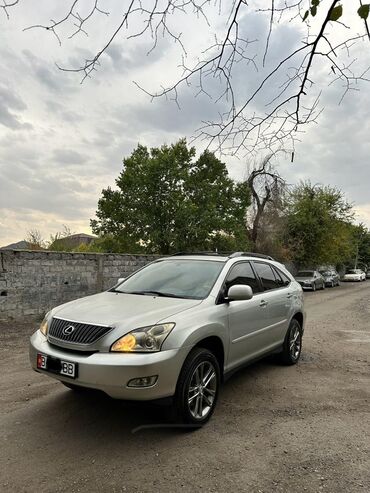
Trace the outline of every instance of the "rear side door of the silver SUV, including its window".
{"type": "Polygon", "coordinates": [[[260,344],[265,351],[280,345],[284,341],[289,326],[292,292],[290,280],[278,279],[277,270],[261,261],[253,261],[253,268],[259,277],[263,292],[261,297],[265,303],[265,330],[261,333],[260,344]]]}

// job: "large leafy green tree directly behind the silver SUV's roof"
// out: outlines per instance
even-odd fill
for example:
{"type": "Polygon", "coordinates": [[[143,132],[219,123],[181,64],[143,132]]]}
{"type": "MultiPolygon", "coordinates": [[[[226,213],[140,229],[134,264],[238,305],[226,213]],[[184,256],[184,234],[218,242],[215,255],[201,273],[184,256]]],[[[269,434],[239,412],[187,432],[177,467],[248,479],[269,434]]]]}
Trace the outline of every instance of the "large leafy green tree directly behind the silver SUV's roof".
{"type": "Polygon", "coordinates": [[[248,188],[213,153],[194,158],[185,139],[150,150],[138,145],[123,160],[117,189],[102,191],[93,232],[163,254],[244,248],[248,188]]]}

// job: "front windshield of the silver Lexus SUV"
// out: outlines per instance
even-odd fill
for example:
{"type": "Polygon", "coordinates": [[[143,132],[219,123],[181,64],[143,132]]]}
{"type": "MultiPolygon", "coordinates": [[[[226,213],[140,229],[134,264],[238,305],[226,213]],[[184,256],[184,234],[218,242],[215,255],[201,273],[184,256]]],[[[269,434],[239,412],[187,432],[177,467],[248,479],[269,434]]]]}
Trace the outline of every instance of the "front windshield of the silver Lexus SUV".
{"type": "Polygon", "coordinates": [[[204,299],[223,266],[224,262],[213,260],[161,260],[144,267],[111,291],[204,299]]]}

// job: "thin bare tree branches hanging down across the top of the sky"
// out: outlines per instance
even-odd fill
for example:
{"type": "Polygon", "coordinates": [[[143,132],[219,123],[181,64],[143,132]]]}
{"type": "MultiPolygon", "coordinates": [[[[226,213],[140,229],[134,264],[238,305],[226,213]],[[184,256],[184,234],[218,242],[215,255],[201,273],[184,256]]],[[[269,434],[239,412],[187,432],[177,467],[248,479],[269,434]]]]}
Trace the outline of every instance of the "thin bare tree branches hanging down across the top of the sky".
{"type": "MultiPolygon", "coordinates": [[[[18,0],[1,1],[0,7],[7,16],[7,9],[18,3],[18,0]]],[[[88,36],[91,23],[109,15],[101,4],[102,0],[91,0],[86,7],[82,0],[69,0],[59,19],[52,19],[47,25],[29,26],[25,30],[45,29],[55,36],[59,44],[62,43],[62,26],[71,27],[69,39],[88,36]],[[82,15],[81,12],[85,13],[82,15]]],[[[315,86],[316,63],[327,63],[331,77],[329,85],[343,85],[340,102],[348,92],[357,91],[360,83],[369,81],[369,68],[361,68],[358,73],[354,58],[349,63],[343,61],[345,55],[350,57],[359,42],[370,39],[367,19],[364,19],[364,32],[354,34],[342,21],[342,16],[339,18],[337,15],[342,5],[340,0],[321,0],[318,4],[309,0],[270,0],[263,8],[256,0],[232,0],[223,7],[221,0],[126,0],[124,5],[122,15],[95,55],[77,67],[58,65],[60,70],[82,74],[83,82],[101,66],[104,53],[117,42],[118,35],[126,34],[122,41],[124,44],[149,35],[152,39],[149,53],[157,48],[160,37],[167,37],[181,49],[182,75],[154,92],[137,81],[134,84],[152,99],[165,97],[178,107],[182,88],[192,88],[195,96],[207,96],[210,104],[221,108],[219,118],[201,122],[194,137],[223,153],[256,153],[261,150],[274,153],[287,146],[294,150],[302,130],[309,123],[316,122],[321,113],[320,90],[315,86]],[[316,21],[318,9],[324,14],[320,21],[316,21]],[[203,20],[205,26],[212,29],[210,13],[214,15],[215,11],[219,15],[226,12],[224,30],[215,28],[214,41],[199,53],[195,64],[188,64],[183,35],[178,28],[172,27],[171,19],[187,14],[203,20]],[[264,16],[267,24],[263,50],[260,49],[261,40],[257,41],[250,33],[248,35],[245,19],[250,14],[264,16]],[[135,23],[138,17],[140,28],[135,23]],[[306,34],[302,35],[298,47],[292,47],[273,64],[268,54],[274,27],[289,22],[299,22],[306,28],[306,34]],[[341,30],[342,40],[336,45],[332,37],[334,30],[341,30]],[[242,72],[249,75],[248,93],[240,91],[236,84],[242,72]]],[[[363,5],[362,0],[359,0],[359,5],[363,5]]],[[[345,4],[343,9],[347,6],[345,4]]]]}

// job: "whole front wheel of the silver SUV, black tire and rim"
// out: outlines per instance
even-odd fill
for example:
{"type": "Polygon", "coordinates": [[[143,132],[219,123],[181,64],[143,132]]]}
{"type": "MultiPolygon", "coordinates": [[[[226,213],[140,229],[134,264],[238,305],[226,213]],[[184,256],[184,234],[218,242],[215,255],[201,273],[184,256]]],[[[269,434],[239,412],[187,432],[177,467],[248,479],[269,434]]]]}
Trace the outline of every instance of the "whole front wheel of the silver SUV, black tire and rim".
{"type": "Polygon", "coordinates": [[[216,407],[220,383],[220,367],[215,355],[208,349],[194,348],[186,358],[177,381],[174,397],[176,421],[196,427],[207,423],[216,407]],[[206,381],[208,384],[204,385],[206,381]]]}

